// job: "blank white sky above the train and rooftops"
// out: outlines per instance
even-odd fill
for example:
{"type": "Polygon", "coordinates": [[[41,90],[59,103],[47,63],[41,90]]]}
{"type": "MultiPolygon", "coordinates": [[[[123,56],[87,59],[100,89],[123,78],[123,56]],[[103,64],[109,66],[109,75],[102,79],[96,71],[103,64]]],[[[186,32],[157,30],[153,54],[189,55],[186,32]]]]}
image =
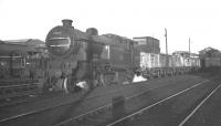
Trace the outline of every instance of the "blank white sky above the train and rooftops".
{"type": "Polygon", "coordinates": [[[220,0],[0,0],[0,40],[40,39],[62,19],[72,19],[82,31],[127,38],[155,36],[165,52],[191,52],[207,46],[221,50],[220,0]]]}

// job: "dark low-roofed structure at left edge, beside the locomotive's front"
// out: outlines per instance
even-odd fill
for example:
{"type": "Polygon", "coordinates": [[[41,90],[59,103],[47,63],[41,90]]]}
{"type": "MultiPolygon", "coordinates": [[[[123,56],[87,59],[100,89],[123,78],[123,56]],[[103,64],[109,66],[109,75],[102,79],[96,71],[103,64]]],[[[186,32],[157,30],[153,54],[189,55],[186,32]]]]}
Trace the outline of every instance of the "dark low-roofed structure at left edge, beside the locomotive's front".
{"type": "Polygon", "coordinates": [[[29,76],[28,67],[40,66],[42,57],[48,53],[41,40],[0,41],[0,78],[29,76]]]}

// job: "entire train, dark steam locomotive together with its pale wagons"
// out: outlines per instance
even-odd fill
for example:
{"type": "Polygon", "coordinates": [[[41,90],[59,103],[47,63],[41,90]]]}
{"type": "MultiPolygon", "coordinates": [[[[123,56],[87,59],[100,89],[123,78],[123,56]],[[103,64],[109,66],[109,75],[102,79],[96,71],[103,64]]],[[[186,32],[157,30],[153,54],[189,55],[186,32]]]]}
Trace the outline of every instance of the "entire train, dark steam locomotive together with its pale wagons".
{"type": "Polygon", "coordinates": [[[116,34],[98,35],[95,28],[82,32],[72,25],[72,20],[62,22],[63,25],[53,28],[46,35],[49,61],[44,91],[72,93],[80,83],[91,90],[110,83],[130,83],[135,74],[148,78],[200,67],[199,57],[189,53],[147,53],[137,41],[116,34]]]}

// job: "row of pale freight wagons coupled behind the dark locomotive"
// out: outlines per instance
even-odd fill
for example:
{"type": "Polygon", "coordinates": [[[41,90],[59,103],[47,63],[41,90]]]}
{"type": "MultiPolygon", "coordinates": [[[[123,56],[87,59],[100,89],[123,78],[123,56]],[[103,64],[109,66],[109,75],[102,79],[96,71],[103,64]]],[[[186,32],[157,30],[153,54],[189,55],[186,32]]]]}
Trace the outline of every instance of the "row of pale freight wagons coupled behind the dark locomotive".
{"type": "Polygon", "coordinates": [[[199,57],[187,56],[182,53],[175,52],[172,55],[166,55],[140,52],[140,71],[147,78],[182,74],[199,67],[199,57]]]}

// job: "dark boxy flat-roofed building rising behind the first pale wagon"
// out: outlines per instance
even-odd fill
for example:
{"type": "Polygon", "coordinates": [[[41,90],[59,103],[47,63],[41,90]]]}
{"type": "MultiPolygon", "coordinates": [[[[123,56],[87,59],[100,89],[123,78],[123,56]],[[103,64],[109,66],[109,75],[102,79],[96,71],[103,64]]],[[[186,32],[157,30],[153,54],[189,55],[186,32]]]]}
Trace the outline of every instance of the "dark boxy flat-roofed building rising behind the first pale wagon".
{"type": "Polygon", "coordinates": [[[138,48],[147,53],[160,53],[159,40],[151,36],[136,36],[134,41],[138,42],[138,48]]]}

